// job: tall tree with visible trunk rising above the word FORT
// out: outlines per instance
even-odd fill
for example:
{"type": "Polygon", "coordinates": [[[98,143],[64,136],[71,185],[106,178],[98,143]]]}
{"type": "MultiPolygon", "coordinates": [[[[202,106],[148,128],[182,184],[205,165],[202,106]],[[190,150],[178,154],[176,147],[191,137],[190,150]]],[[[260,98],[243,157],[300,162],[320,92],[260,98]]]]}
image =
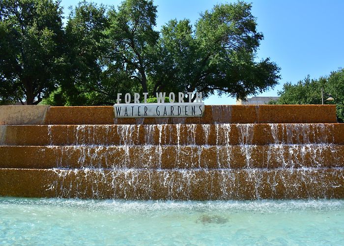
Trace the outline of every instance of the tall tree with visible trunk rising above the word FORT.
{"type": "Polygon", "coordinates": [[[109,11],[111,51],[106,65],[109,71],[125,71],[130,84],[138,83],[143,92],[148,92],[147,70],[154,62],[149,49],[159,38],[153,30],[156,12],[151,0],[125,0],[118,10],[109,11]]]}

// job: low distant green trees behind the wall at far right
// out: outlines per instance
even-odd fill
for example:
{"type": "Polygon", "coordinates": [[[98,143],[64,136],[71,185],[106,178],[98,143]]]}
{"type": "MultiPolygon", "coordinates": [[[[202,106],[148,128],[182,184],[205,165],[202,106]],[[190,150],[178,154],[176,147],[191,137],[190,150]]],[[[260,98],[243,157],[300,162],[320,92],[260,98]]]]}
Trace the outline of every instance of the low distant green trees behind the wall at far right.
{"type": "Polygon", "coordinates": [[[270,104],[321,104],[321,88],[325,92],[325,104],[337,105],[337,119],[344,121],[344,69],[331,72],[329,76],[310,79],[307,76],[295,85],[284,84],[283,90],[278,92],[280,98],[270,104]],[[332,94],[334,101],[326,101],[327,94],[332,94]]]}

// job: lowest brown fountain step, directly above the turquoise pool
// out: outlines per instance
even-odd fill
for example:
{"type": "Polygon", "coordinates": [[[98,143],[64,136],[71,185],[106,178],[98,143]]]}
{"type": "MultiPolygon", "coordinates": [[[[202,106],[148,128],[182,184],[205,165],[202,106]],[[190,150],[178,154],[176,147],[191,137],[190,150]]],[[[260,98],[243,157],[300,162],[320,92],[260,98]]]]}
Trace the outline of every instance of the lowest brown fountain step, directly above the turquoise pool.
{"type": "Polygon", "coordinates": [[[344,198],[343,169],[4,169],[0,196],[144,200],[344,198]]]}

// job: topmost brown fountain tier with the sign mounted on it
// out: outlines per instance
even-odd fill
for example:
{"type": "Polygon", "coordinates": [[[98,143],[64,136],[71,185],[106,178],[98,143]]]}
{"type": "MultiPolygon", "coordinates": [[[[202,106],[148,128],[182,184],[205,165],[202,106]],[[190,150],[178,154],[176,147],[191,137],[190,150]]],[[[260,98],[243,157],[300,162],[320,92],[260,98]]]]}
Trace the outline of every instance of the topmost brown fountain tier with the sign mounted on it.
{"type": "Polygon", "coordinates": [[[336,123],[335,105],[205,105],[203,117],[118,118],[113,106],[0,106],[0,124],[336,123]]]}

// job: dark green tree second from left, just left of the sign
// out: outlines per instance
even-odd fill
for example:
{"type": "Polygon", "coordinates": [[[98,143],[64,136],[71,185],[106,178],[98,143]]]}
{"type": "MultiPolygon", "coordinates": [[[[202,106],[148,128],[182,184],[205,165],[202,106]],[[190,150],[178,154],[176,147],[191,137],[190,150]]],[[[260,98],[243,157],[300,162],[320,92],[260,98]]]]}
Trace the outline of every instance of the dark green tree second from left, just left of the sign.
{"type": "MultiPolygon", "coordinates": [[[[106,8],[82,1],[72,9],[65,28],[68,47],[67,62],[61,89],[55,97],[64,98],[64,105],[104,104],[102,87],[103,56],[108,51],[105,29],[108,27],[106,8]]],[[[52,102],[51,102],[52,103],[52,102]]],[[[53,103],[55,104],[55,103],[53,103]]]]}

